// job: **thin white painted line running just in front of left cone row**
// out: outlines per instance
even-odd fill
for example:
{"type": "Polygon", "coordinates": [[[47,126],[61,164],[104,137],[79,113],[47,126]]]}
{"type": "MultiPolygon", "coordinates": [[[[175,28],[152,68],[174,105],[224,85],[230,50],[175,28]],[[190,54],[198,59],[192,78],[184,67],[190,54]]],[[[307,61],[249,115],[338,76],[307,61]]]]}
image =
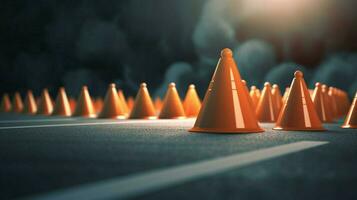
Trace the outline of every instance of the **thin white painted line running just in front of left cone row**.
{"type": "MultiPolygon", "coordinates": [[[[168,123],[185,123],[192,120],[121,120],[110,122],[88,122],[88,123],[68,123],[68,124],[42,124],[42,125],[24,125],[24,126],[6,126],[0,127],[0,130],[9,129],[29,129],[29,128],[49,128],[49,127],[72,127],[72,126],[98,126],[111,124],[168,124],[168,123]]],[[[193,122],[193,121],[192,121],[193,122]]]]}

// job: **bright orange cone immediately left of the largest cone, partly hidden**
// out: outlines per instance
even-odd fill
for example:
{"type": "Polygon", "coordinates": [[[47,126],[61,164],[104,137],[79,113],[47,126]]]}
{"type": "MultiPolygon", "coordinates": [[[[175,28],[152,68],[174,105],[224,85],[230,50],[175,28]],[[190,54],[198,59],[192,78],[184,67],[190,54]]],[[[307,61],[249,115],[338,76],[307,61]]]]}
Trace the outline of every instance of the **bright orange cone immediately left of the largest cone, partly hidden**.
{"type": "Polygon", "coordinates": [[[187,117],[197,117],[201,108],[201,100],[197,95],[195,85],[188,86],[185,100],[183,101],[183,108],[187,117]]]}

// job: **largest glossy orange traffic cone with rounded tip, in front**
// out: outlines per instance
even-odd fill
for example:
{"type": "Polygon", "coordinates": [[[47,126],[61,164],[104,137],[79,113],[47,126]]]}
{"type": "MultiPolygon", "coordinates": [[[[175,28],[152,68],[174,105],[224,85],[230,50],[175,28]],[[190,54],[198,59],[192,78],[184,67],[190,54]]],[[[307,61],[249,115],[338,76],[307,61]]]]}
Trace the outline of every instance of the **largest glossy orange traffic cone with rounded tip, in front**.
{"type": "Polygon", "coordinates": [[[233,53],[221,51],[195,125],[189,131],[213,133],[263,132],[249,103],[233,53]]]}

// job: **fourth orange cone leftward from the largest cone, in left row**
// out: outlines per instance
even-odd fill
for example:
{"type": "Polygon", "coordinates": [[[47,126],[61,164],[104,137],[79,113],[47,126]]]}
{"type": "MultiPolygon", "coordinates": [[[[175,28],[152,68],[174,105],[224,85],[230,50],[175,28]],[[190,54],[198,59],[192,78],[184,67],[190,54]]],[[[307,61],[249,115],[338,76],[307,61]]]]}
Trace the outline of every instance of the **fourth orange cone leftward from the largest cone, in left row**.
{"type": "Polygon", "coordinates": [[[115,84],[109,85],[107,94],[105,95],[104,105],[99,114],[99,118],[114,118],[125,119],[125,112],[121,107],[121,102],[115,84]]]}

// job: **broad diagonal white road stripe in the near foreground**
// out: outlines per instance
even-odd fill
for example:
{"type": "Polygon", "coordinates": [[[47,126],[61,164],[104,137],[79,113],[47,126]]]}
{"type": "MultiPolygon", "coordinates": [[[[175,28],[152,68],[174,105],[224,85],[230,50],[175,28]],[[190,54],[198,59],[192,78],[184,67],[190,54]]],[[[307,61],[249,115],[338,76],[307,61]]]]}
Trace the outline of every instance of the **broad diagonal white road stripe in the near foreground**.
{"type": "Polygon", "coordinates": [[[301,141],[58,190],[28,199],[124,199],[327,144],[301,141]]]}

